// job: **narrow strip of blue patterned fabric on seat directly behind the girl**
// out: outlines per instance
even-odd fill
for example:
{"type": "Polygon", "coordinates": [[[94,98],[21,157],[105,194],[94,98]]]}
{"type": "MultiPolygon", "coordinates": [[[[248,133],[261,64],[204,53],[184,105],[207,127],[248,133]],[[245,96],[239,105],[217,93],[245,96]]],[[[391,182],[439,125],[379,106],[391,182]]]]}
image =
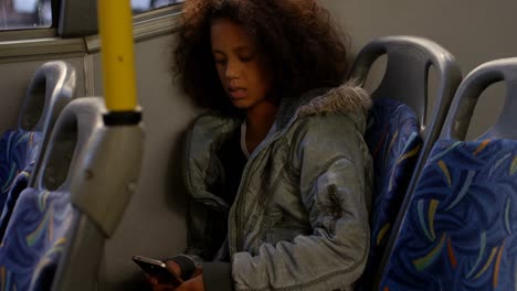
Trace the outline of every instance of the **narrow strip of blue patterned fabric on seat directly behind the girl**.
{"type": "Polygon", "coordinates": [[[371,290],[392,225],[422,144],[416,114],[393,99],[376,99],[365,137],[373,158],[374,190],[370,216],[370,255],[357,289],[371,290]]]}

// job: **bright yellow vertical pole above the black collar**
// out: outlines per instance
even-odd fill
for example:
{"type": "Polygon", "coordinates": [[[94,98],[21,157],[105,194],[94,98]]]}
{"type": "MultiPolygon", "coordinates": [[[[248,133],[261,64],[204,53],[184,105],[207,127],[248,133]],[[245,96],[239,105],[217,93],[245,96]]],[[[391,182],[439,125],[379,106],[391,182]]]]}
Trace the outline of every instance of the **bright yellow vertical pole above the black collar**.
{"type": "Polygon", "coordinates": [[[109,111],[137,106],[130,0],[98,0],[104,98],[109,111]]]}

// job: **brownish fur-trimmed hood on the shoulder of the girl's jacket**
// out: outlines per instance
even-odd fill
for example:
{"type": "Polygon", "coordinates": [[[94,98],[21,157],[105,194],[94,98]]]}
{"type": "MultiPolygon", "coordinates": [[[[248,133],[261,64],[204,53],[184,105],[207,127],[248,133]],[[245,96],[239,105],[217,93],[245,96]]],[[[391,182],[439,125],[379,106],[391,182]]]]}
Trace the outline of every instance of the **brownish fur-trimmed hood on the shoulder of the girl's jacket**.
{"type": "Polygon", "coordinates": [[[295,114],[297,118],[303,118],[310,115],[346,112],[362,128],[360,125],[365,123],[370,106],[371,98],[368,93],[355,80],[350,80],[336,88],[310,90],[296,100],[284,100],[278,110],[277,126],[286,126],[295,114]]]}

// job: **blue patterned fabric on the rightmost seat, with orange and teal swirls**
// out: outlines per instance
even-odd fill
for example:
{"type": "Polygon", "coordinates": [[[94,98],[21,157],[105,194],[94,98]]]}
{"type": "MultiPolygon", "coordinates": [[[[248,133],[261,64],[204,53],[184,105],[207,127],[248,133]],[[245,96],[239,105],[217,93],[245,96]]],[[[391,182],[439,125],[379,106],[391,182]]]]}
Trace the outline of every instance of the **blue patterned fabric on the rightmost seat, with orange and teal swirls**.
{"type": "Polygon", "coordinates": [[[516,173],[517,141],[437,142],[382,290],[516,290],[516,173]]]}

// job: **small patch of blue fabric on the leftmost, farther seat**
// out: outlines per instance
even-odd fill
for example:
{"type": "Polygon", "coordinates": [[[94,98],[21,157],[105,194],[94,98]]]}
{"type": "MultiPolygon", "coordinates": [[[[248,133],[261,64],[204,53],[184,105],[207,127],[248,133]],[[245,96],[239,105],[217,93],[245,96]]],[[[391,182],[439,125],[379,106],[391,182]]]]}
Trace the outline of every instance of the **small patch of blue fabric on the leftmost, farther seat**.
{"type": "Polygon", "coordinates": [[[7,131],[0,139],[0,209],[17,176],[30,175],[28,166],[35,162],[41,141],[42,133],[35,131],[7,131]]]}

